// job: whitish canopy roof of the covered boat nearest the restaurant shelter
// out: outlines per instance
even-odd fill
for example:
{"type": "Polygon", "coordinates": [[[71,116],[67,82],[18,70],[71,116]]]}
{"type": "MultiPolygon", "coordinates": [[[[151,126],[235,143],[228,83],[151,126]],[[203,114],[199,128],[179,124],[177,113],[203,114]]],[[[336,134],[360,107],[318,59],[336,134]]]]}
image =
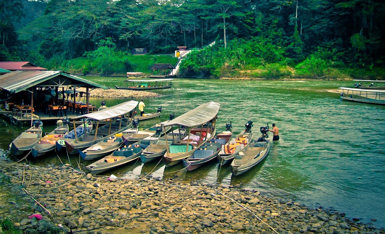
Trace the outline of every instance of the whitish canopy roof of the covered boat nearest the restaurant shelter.
{"type": "Polygon", "coordinates": [[[91,118],[91,119],[95,119],[96,121],[100,121],[100,120],[115,118],[118,116],[125,115],[126,113],[129,113],[130,111],[134,110],[136,105],[138,105],[138,101],[134,101],[134,100],[126,101],[124,103],[111,106],[109,108],[105,108],[103,110],[96,111],[93,113],[80,115],[72,119],[91,118]]]}

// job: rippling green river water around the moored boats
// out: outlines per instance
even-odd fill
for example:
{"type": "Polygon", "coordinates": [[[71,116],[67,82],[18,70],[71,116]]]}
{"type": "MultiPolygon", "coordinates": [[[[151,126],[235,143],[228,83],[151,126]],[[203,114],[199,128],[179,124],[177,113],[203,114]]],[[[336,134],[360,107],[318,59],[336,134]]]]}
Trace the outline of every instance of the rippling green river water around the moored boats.
{"type": "MultiPolygon", "coordinates": [[[[85,77],[102,85],[126,85],[124,78],[85,77]]],[[[179,176],[184,181],[220,184],[240,184],[271,196],[293,199],[310,207],[325,207],[345,212],[347,217],[359,217],[363,222],[385,226],[385,106],[341,101],[338,93],[326,90],[340,86],[351,87],[352,81],[241,81],[175,79],[171,89],[154,91],[159,98],[144,100],[145,111],[155,112],[162,106],[161,119],[142,121],[145,129],[164,121],[170,113],[179,116],[201,103],[221,103],[217,129],[225,130],[229,121],[233,133],[244,129],[248,120],[253,131],[276,123],[280,141],[275,142],[266,159],[241,176],[232,176],[229,165],[218,163],[186,172],[182,164],[165,168],[158,161],[142,164],[140,159],[105,175],[139,178],[151,173],[163,179],[179,176]],[[177,171],[177,172],[174,172],[177,171]]],[[[97,106],[101,98],[90,99],[97,106]]],[[[127,101],[107,99],[107,106],[127,101]]],[[[49,132],[55,126],[43,126],[49,132]]],[[[9,143],[23,131],[2,120],[0,148],[8,150],[9,143]]],[[[8,153],[5,152],[7,155],[8,153]]],[[[79,161],[59,154],[63,163],[79,161]]],[[[55,154],[37,164],[60,164],[55,154]]],[[[93,161],[82,162],[90,164],[93,161]]]]}

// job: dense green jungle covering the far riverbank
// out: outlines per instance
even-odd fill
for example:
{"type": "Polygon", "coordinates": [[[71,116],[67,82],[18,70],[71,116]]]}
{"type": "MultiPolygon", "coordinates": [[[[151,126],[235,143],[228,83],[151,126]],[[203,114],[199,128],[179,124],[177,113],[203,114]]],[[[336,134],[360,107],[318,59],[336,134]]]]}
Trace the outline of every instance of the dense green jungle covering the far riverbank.
{"type": "Polygon", "coordinates": [[[379,0],[2,0],[0,8],[0,61],[111,75],[148,69],[132,48],[147,48],[142,59],[176,63],[151,55],[216,41],[191,53],[182,72],[275,78],[365,70],[382,79],[379,0]]]}

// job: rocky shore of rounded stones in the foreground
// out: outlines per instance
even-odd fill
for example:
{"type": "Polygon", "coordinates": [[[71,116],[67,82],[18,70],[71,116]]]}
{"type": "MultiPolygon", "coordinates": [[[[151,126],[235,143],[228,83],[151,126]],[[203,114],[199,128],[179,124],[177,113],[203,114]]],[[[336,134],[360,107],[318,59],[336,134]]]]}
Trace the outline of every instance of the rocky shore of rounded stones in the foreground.
{"type": "Polygon", "coordinates": [[[95,177],[69,164],[41,167],[3,160],[0,168],[10,183],[21,184],[41,205],[28,210],[19,204],[15,207],[24,208],[9,212],[25,233],[34,222],[28,216],[39,211],[43,220],[80,233],[385,233],[338,211],[311,209],[237,186],[146,175],[95,177]]]}

